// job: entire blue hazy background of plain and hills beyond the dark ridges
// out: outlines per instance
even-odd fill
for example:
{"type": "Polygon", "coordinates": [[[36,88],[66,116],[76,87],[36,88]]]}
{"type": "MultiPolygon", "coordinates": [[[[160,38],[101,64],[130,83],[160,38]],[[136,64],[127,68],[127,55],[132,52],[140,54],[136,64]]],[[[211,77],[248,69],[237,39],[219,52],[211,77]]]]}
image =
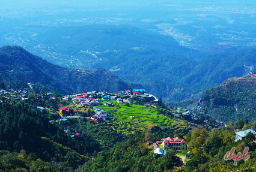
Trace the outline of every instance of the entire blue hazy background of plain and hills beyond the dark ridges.
{"type": "Polygon", "coordinates": [[[256,45],[254,7],[254,1],[2,2],[0,46],[21,46],[63,67],[103,67],[166,102],[182,101],[254,72],[254,62],[236,64],[256,45]],[[234,65],[218,64],[228,56],[234,65]]]}

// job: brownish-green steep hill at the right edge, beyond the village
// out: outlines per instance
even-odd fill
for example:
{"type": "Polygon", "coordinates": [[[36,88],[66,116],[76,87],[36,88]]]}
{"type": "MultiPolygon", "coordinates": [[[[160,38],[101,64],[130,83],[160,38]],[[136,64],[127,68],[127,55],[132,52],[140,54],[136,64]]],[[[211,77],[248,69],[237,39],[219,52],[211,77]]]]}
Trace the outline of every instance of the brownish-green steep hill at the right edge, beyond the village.
{"type": "Polygon", "coordinates": [[[256,74],[231,78],[221,86],[206,90],[200,100],[200,111],[230,122],[238,119],[256,120],[256,74]]]}

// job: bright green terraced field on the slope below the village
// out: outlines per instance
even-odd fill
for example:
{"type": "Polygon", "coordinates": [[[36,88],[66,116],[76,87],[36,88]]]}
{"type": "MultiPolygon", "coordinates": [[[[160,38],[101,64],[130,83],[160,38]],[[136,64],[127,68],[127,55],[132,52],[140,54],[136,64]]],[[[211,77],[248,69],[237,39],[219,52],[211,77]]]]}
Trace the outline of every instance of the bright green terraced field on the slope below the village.
{"type": "MultiPolygon", "coordinates": [[[[113,102],[114,104],[118,104],[115,101],[113,102]]],[[[144,130],[156,125],[161,128],[171,127],[174,129],[177,126],[177,122],[160,114],[156,108],[146,107],[145,105],[130,104],[130,106],[126,106],[124,104],[118,104],[115,107],[101,105],[97,106],[97,108],[108,111],[109,125],[113,129],[127,134],[133,133],[135,129],[144,130]],[[131,116],[134,116],[134,118],[130,118],[131,116]]],[[[180,129],[180,125],[177,129],[180,129]]]]}

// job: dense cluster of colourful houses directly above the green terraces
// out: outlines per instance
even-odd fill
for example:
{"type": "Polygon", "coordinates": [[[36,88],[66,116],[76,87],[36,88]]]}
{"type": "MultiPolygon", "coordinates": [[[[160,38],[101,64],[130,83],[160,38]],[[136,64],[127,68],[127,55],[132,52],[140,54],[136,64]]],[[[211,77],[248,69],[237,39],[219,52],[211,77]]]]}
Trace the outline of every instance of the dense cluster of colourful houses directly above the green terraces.
{"type": "MultiPolygon", "coordinates": [[[[46,93],[46,95],[49,96],[49,99],[53,98],[52,93],[46,93]]],[[[134,98],[136,99],[145,98],[151,104],[156,104],[158,102],[158,99],[155,96],[145,93],[144,89],[125,90],[125,91],[120,91],[118,93],[107,93],[107,92],[96,92],[96,91],[86,92],[86,93],[82,92],[76,95],[63,96],[62,99],[65,99],[65,100],[70,99],[75,105],[79,105],[81,107],[86,107],[93,110],[93,112],[90,113],[91,116],[88,116],[87,119],[89,119],[90,122],[100,123],[102,122],[102,120],[107,119],[108,111],[101,110],[100,108],[97,108],[95,106],[100,106],[101,102],[107,107],[117,106],[117,104],[114,104],[113,101],[117,101],[118,104],[125,104],[125,103],[126,104],[129,104],[129,103],[142,104],[139,101],[133,101],[134,98]]],[[[156,105],[150,105],[150,107],[157,108],[156,105]]],[[[59,107],[59,115],[63,118],[69,118],[69,117],[74,117],[75,114],[72,108],[59,107]]],[[[134,116],[130,116],[130,118],[132,119],[134,118],[134,116]]]]}

